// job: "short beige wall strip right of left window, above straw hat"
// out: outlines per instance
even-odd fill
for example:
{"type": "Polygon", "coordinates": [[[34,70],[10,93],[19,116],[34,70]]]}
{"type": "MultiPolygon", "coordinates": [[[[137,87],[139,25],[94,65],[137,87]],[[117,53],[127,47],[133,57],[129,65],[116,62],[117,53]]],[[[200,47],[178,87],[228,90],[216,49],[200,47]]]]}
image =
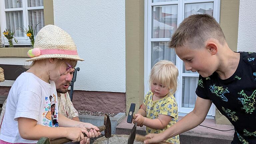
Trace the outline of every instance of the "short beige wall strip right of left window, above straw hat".
{"type": "Polygon", "coordinates": [[[44,0],[44,24],[54,25],[53,0],[44,0]]]}

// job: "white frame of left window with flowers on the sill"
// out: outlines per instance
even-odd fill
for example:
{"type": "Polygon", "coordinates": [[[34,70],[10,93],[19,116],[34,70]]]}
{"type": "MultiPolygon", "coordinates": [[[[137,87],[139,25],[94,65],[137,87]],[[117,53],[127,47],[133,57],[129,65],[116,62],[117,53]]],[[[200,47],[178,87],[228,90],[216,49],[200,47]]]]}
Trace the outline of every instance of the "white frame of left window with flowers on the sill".
{"type": "MultiPolygon", "coordinates": [[[[0,26],[1,26],[1,34],[7,28],[6,24],[6,15],[5,12],[8,11],[22,11],[23,13],[23,26],[28,27],[28,10],[42,10],[44,9],[43,6],[38,7],[28,7],[28,0],[22,1],[22,8],[5,8],[5,0],[0,0],[0,26]]],[[[24,37],[15,37],[18,40],[18,43],[13,42],[13,45],[30,45],[30,39],[24,34],[24,37]]],[[[9,45],[8,40],[5,38],[5,45],[9,45]]]]}

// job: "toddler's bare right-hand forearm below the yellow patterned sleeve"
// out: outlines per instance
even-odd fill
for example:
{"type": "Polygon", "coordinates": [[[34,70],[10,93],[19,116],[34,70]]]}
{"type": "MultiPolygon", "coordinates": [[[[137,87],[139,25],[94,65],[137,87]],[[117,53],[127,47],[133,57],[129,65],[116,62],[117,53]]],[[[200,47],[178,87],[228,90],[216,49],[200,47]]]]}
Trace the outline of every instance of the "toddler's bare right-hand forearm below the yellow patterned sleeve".
{"type": "Polygon", "coordinates": [[[153,129],[163,129],[172,120],[172,116],[160,114],[157,119],[144,118],[143,125],[153,129]]]}

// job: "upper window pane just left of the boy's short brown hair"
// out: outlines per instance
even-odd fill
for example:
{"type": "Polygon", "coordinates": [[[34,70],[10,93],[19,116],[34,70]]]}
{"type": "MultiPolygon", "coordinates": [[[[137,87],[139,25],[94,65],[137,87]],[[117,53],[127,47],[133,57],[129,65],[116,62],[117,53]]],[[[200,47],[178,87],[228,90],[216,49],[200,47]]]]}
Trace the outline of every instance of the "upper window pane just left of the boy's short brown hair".
{"type": "Polygon", "coordinates": [[[170,38],[177,29],[178,5],[153,6],[152,38],[170,38]]]}

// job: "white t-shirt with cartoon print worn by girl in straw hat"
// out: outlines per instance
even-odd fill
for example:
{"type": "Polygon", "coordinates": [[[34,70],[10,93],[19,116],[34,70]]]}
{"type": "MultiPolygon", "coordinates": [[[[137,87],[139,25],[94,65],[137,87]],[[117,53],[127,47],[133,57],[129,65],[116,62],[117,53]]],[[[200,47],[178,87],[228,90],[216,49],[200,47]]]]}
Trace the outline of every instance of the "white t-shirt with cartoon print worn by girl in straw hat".
{"type": "Polygon", "coordinates": [[[17,121],[19,117],[34,119],[43,126],[58,127],[54,81],[46,83],[34,74],[24,72],[16,79],[8,94],[0,139],[9,143],[37,143],[21,138],[17,121]]]}

